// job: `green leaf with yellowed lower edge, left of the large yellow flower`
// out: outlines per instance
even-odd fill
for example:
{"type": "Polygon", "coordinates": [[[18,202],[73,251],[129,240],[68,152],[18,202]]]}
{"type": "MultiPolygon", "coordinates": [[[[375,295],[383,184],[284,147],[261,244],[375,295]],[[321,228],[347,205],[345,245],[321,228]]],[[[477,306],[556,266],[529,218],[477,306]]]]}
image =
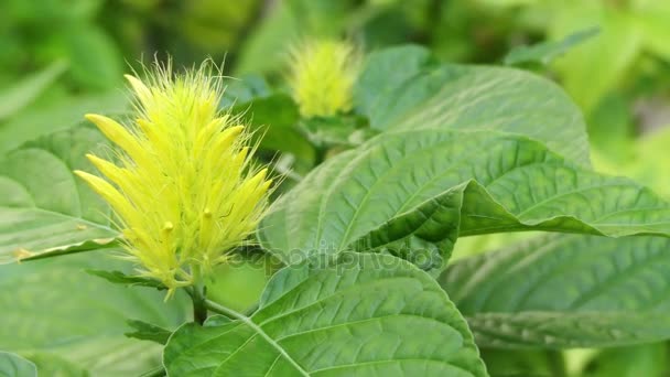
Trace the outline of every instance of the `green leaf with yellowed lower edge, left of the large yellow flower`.
{"type": "Polygon", "coordinates": [[[114,241],[108,206],[73,174],[93,170],[86,152],[105,147],[96,129],[79,127],[28,142],[1,159],[0,263],[114,241]]]}

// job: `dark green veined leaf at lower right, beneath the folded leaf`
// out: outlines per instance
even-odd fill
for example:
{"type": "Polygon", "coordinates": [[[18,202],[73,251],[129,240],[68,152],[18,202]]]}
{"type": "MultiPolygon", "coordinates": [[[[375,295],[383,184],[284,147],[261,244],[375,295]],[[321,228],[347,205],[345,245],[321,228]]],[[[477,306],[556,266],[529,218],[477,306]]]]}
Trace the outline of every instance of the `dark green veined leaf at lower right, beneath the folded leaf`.
{"type": "Polygon", "coordinates": [[[670,240],[552,235],[465,259],[440,282],[493,347],[670,338],[670,240]]]}

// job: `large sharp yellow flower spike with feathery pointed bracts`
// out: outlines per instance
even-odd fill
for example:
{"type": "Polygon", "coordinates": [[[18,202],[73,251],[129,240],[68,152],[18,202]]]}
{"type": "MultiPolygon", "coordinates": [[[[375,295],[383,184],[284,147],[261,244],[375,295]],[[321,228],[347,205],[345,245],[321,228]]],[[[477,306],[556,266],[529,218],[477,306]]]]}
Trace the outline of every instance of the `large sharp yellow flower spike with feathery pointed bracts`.
{"type": "Polygon", "coordinates": [[[174,76],[159,66],[143,83],[126,76],[137,119],[121,126],[87,115],[120,151],[88,154],[107,177],[76,171],[115,212],[129,259],[172,292],[195,284],[253,231],[271,180],[251,162],[250,134],[221,115],[210,65],[174,76]]]}

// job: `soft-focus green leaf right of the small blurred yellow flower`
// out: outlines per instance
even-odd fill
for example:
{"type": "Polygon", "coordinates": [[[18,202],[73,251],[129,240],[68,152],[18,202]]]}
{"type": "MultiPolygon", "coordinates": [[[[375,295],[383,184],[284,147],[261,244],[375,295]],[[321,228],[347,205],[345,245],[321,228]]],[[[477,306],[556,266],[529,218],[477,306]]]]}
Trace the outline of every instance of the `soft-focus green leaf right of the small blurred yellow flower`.
{"type": "Polygon", "coordinates": [[[582,115],[555,84],[510,68],[435,65],[426,54],[402,46],[370,55],[355,89],[355,105],[372,128],[522,134],[588,164],[582,115]]]}

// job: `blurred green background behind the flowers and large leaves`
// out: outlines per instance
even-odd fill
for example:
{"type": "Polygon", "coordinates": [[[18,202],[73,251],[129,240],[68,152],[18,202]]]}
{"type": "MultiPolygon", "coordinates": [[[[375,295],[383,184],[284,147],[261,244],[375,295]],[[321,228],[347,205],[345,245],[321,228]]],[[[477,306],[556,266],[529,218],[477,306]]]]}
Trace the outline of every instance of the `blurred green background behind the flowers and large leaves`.
{"type": "MultiPolygon", "coordinates": [[[[346,37],[366,52],[417,43],[445,62],[550,77],[582,108],[596,169],[670,197],[667,0],[1,0],[0,153],[75,127],[85,112],[126,111],[122,74],[154,56],[176,66],[210,56],[227,75],[281,87],[287,51],[305,37],[346,37]]],[[[509,238],[460,241],[456,256],[509,238]]],[[[235,294],[217,299],[247,308],[268,273],[221,273],[217,286],[235,294]]],[[[670,376],[667,344],[484,355],[500,376],[670,376]]],[[[63,365],[62,375],[75,374],[63,365]]]]}

